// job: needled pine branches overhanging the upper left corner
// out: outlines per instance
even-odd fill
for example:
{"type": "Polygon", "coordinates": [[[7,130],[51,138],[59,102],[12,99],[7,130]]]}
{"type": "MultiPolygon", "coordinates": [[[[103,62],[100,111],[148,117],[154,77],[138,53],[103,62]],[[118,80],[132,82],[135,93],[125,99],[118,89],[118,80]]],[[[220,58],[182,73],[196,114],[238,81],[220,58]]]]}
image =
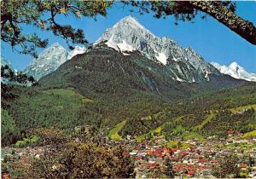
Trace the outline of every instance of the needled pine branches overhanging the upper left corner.
{"type": "Polygon", "coordinates": [[[36,48],[45,48],[48,40],[41,39],[37,34],[28,34],[22,26],[35,26],[41,31],[53,32],[55,36],[64,38],[68,46],[73,43],[87,43],[84,32],[74,29],[71,25],[62,25],[55,16],[75,15],[96,18],[97,14],[106,15],[107,9],[113,4],[111,1],[102,0],[4,0],[1,3],[1,40],[9,43],[14,49],[19,46],[20,54],[37,56],[36,48]],[[48,18],[45,18],[49,15],[48,18]],[[45,20],[46,19],[46,20],[45,20]]]}

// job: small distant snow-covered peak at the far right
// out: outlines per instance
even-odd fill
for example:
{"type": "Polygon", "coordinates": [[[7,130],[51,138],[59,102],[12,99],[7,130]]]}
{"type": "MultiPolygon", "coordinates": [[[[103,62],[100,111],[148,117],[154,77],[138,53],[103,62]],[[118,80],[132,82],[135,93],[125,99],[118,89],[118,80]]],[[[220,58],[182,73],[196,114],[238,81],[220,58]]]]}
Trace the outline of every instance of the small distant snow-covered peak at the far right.
{"type": "Polygon", "coordinates": [[[256,74],[253,72],[247,72],[246,69],[236,62],[232,62],[230,66],[219,65],[217,62],[211,62],[212,66],[218,68],[219,72],[228,74],[233,78],[245,79],[247,81],[256,82],[256,74]]]}

